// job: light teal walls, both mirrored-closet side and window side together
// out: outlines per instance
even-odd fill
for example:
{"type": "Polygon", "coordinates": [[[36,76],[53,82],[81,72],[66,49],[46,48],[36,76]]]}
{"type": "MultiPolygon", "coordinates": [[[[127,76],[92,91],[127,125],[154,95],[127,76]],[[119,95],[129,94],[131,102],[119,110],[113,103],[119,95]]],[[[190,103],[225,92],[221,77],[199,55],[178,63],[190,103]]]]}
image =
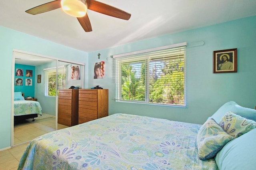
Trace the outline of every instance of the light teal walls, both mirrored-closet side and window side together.
{"type": "MultiPolygon", "coordinates": [[[[14,30],[0,27],[0,149],[10,146],[12,49],[21,49],[53,57],[86,63],[85,88],[102,86],[109,89],[109,113],[128,113],[174,121],[202,124],[221,105],[228,101],[254,108],[256,105],[256,16],[170,34],[109,49],[85,53],[14,30]],[[194,42],[204,45],[192,47],[194,42]],[[163,45],[187,42],[186,51],[186,107],[121,103],[113,100],[112,60],[108,57],[163,45]],[[213,73],[213,51],[238,49],[237,73],[213,73]],[[98,59],[100,53],[100,59],[98,59]],[[105,61],[104,79],[93,79],[93,65],[105,61]]],[[[129,36],[129,35],[127,35],[129,36]]],[[[41,103],[41,101],[40,101],[41,103]]]]}

